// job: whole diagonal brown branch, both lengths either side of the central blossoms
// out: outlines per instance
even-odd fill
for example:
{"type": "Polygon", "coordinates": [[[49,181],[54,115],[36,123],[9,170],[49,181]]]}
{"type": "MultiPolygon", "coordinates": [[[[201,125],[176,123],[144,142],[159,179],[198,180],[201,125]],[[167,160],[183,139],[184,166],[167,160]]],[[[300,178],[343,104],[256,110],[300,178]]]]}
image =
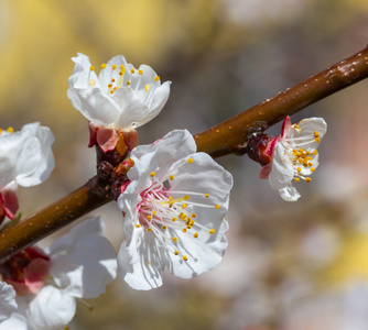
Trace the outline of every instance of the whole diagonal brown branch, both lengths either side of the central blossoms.
{"type": "MultiPolygon", "coordinates": [[[[198,151],[213,157],[246,153],[248,135],[368,77],[368,47],[270,99],[196,134],[198,151]]],[[[58,201],[0,233],[0,263],[111,201],[97,177],[58,201]]]]}

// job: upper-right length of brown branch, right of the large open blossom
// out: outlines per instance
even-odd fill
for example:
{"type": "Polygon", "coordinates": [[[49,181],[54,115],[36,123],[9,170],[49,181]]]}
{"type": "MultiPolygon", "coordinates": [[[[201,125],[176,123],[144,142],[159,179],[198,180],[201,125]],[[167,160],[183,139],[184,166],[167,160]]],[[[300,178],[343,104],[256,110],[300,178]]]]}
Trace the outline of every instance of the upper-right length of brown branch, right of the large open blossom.
{"type": "Polygon", "coordinates": [[[245,154],[257,124],[271,127],[305,107],[368,77],[368,47],[324,72],[279,92],[238,116],[194,135],[198,151],[213,157],[245,154]]]}

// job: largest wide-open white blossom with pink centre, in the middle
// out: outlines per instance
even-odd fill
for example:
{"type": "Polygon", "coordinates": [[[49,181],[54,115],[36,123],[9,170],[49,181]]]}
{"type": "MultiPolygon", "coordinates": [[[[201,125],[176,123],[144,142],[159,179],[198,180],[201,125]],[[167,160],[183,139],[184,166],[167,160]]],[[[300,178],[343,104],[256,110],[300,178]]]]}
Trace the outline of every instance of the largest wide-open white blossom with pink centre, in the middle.
{"type": "Polygon", "coordinates": [[[224,219],[232,177],[209,155],[196,153],[186,130],[132,150],[130,184],[118,199],[126,241],[119,271],[136,289],[162,285],[165,267],[192,278],[217,265],[227,248],[224,219]]]}

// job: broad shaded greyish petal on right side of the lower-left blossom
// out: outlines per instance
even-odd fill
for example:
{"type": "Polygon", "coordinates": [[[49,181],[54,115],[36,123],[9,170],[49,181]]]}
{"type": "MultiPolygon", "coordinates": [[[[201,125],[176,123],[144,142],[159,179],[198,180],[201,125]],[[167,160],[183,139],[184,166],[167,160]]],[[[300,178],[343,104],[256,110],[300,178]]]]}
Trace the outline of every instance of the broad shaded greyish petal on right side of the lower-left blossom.
{"type": "MultiPolygon", "coordinates": [[[[97,227],[96,219],[85,221],[97,227]]],[[[105,293],[105,286],[117,274],[116,253],[111,243],[100,234],[80,232],[86,228],[82,223],[72,234],[73,245],[66,253],[54,255],[50,274],[55,283],[74,297],[96,298],[105,293]],[[76,238],[76,232],[80,234],[76,238]]]]}

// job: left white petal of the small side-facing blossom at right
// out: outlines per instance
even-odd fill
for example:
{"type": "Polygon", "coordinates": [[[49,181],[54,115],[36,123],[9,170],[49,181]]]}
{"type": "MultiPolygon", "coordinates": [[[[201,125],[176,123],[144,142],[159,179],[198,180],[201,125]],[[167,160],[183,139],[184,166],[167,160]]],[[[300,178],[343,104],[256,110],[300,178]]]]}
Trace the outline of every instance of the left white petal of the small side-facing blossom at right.
{"type": "Polygon", "coordinates": [[[278,143],[272,158],[269,183],[272,189],[279,190],[288,186],[294,177],[294,168],[282,143],[278,143]]]}

